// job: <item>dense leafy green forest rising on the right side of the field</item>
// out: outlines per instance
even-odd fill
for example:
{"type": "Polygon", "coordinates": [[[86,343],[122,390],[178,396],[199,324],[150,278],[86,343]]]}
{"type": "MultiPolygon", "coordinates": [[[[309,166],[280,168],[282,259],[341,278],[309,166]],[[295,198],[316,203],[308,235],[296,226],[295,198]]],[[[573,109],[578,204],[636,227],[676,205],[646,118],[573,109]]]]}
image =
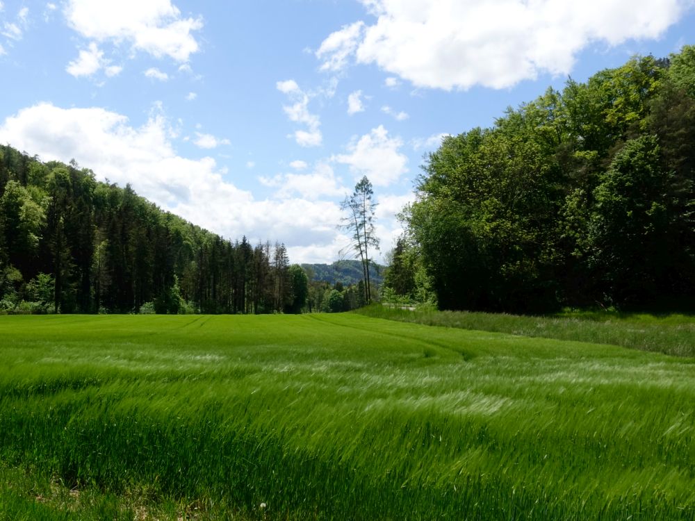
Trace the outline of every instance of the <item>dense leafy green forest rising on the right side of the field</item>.
{"type": "Polygon", "coordinates": [[[429,154],[385,286],[441,309],[692,309],[695,47],[637,56],[429,154]]]}

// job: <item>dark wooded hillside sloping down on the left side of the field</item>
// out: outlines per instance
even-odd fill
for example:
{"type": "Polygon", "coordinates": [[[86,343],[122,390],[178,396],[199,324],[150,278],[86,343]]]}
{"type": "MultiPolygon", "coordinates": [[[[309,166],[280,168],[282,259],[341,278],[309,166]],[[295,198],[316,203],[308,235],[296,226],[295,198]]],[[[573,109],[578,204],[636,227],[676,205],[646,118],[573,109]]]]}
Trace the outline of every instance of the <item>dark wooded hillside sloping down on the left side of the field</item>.
{"type": "Polygon", "coordinates": [[[286,247],[231,242],[76,163],[0,146],[0,311],[300,313],[286,247]]]}

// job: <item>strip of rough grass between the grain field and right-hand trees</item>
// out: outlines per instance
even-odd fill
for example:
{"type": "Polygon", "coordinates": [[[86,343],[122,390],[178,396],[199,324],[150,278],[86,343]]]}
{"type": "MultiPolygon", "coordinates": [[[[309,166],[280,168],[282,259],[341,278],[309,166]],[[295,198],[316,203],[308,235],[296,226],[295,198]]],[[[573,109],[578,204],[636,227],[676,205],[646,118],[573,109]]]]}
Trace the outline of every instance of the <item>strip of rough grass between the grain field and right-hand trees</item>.
{"type": "Polygon", "coordinates": [[[611,344],[674,356],[695,356],[695,315],[566,312],[550,316],[471,311],[410,311],[374,304],[357,311],[365,316],[429,326],[496,331],[533,338],[557,338],[611,344]]]}

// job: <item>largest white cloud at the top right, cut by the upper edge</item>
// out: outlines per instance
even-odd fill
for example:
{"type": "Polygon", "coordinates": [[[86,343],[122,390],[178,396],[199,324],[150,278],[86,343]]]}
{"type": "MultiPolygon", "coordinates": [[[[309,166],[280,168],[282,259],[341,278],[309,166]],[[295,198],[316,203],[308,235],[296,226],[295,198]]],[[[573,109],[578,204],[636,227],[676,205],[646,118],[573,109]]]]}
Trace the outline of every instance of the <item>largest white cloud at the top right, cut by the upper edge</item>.
{"type": "Polygon", "coordinates": [[[507,88],[568,74],[594,42],[659,38],[691,0],[361,0],[377,19],[320,45],[322,69],[376,64],[417,87],[507,88]]]}

